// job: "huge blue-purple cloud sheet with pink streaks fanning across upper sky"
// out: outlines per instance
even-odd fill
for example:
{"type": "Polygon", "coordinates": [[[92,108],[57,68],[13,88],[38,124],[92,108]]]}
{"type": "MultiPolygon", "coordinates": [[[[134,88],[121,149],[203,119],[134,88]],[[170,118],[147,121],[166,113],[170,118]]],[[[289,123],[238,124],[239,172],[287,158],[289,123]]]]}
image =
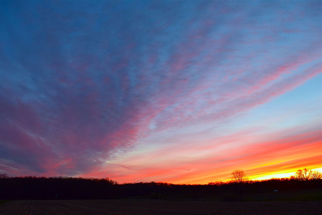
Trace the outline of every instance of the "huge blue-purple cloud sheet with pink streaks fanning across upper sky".
{"type": "MultiPolygon", "coordinates": [[[[105,175],[154,132],[220,127],[321,72],[318,3],[240,4],[1,3],[5,171],[105,175]]],[[[179,177],[158,168],[140,174],[179,177]]]]}

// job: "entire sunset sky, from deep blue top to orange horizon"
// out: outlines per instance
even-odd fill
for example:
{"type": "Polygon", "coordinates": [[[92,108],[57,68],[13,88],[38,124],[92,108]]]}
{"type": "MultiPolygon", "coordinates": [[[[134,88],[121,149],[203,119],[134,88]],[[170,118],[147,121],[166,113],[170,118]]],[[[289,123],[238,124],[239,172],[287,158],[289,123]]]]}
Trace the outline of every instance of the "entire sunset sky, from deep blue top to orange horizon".
{"type": "Polygon", "coordinates": [[[0,172],[322,171],[321,1],[1,1],[0,172]]]}

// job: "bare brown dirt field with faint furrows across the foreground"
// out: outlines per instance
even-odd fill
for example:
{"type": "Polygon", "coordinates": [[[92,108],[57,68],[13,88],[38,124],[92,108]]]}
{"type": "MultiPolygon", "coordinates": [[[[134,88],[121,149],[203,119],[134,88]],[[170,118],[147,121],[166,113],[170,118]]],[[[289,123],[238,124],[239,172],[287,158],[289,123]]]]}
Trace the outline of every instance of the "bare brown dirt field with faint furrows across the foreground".
{"type": "Polygon", "coordinates": [[[321,201],[13,200],[0,214],[322,214],[321,201]]]}

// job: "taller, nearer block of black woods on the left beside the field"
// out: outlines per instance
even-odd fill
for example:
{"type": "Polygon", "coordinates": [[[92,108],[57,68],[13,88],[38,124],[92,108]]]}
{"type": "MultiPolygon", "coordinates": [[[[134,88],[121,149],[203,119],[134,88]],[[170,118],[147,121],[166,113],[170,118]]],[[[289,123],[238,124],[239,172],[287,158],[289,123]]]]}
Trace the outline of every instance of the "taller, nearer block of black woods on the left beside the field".
{"type": "Polygon", "coordinates": [[[111,199],[115,181],[71,177],[0,178],[1,199],[111,199]]]}

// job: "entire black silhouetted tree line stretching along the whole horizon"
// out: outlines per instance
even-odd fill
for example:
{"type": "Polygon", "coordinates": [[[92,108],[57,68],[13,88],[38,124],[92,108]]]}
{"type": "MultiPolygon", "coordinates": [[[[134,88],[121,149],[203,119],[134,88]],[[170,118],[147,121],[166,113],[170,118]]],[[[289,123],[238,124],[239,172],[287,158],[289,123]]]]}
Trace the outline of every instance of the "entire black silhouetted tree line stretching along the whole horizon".
{"type": "Polygon", "coordinates": [[[170,184],[163,182],[139,182],[118,184],[109,178],[71,177],[1,177],[2,200],[67,200],[67,199],[201,199],[234,198],[243,194],[258,194],[273,190],[298,191],[321,189],[322,179],[296,180],[273,178],[261,181],[210,182],[200,184],[170,184]]]}

